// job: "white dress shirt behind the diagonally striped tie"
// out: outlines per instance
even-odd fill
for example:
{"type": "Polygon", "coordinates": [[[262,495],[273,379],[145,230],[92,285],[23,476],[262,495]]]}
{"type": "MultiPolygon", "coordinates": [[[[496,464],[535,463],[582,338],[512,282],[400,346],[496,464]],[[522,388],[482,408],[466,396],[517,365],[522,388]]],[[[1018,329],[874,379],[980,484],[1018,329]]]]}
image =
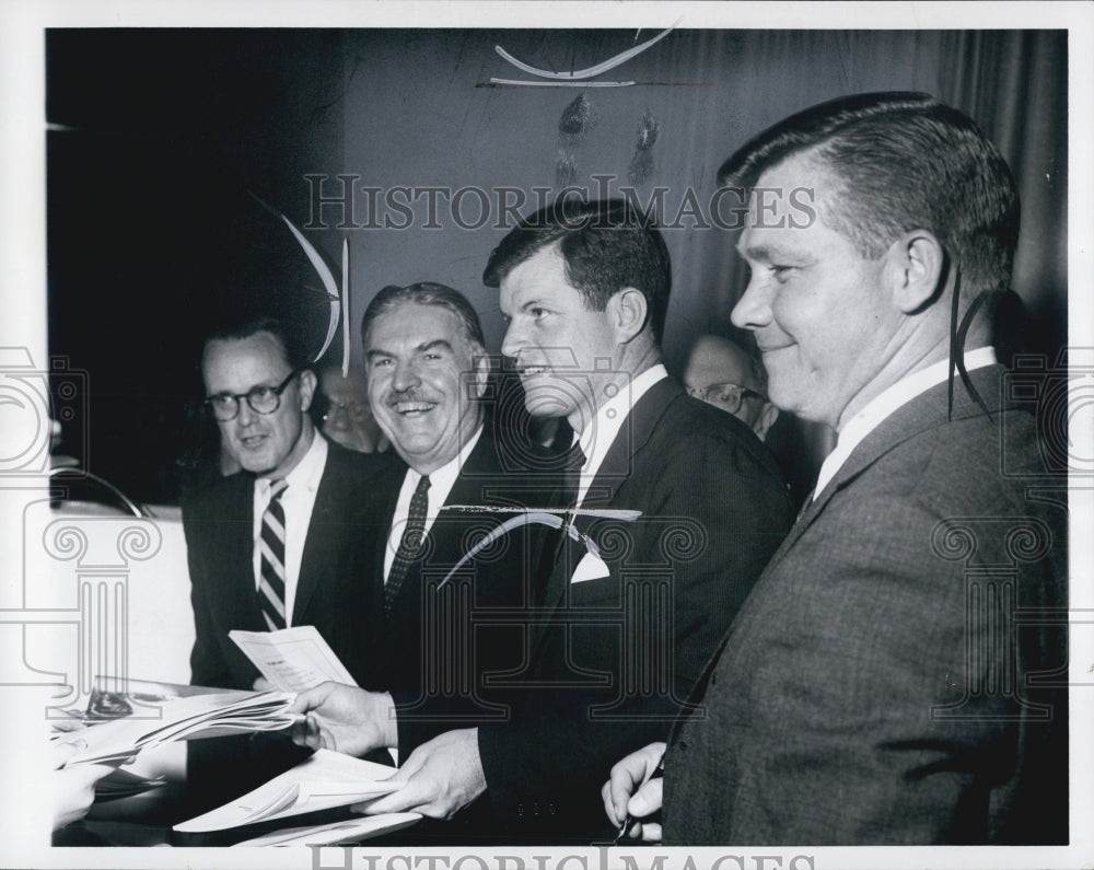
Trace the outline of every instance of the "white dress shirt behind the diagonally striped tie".
{"type": "MultiPolygon", "coordinates": [[[[281,494],[284,508],[284,624],[292,625],[292,610],[296,601],[296,582],[300,580],[300,564],[304,556],[304,540],[312,522],[315,494],[323,479],[327,464],[327,441],[318,432],[312,437],[312,445],[304,457],[286,475],[288,488],[281,494]]],[[[270,503],[270,478],[255,480],[255,517],[253,527],[255,590],[261,579],[263,560],[258,542],[263,534],[263,514],[270,503]]]]}

